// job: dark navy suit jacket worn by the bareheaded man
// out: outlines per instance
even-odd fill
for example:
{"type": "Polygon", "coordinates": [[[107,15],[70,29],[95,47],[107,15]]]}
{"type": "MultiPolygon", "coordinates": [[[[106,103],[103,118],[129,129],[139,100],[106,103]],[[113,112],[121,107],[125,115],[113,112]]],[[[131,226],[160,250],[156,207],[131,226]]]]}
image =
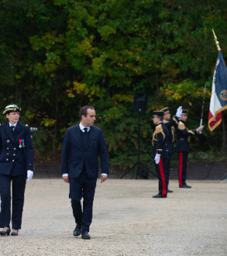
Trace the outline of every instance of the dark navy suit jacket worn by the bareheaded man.
{"type": "Polygon", "coordinates": [[[91,126],[88,144],[84,148],[80,126],[70,127],[63,141],[61,173],[77,178],[85,162],[88,178],[99,177],[98,152],[101,158],[102,174],[109,174],[108,152],[103,131],[96,126],[91,126]]]}

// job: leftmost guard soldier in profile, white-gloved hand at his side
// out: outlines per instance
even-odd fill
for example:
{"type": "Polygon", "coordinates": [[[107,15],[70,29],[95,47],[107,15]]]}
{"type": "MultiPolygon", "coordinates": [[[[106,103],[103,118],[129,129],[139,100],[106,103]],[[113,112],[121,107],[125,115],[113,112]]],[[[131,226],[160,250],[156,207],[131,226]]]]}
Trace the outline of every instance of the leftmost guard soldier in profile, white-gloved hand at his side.
{"type": "Polygon", "coordinates": [[[153,112],[153,123],[157,124],[153,133],[153,159],[159,179],[159,193],[153,198],[167,197],[167,162],[168,159],[168,129],[163,123],[164,112],[153,112]]]}

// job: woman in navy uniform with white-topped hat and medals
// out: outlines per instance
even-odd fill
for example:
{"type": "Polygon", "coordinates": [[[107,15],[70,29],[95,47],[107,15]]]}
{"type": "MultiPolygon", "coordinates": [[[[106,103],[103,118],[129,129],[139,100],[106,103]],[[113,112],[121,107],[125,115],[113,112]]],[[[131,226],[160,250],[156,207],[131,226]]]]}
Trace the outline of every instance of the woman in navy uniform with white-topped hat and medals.
{"type": "Polygon", "coordinates": [[[0,124],[0,235],[9,236],[11,219],[12,181],[12,236],[17,236],[21,229],[24,191],[27,181],[33,177],[34,148],[29,126],[19,123],[21,108],[15,104],[5,107],[6,123],[0,124]]]}

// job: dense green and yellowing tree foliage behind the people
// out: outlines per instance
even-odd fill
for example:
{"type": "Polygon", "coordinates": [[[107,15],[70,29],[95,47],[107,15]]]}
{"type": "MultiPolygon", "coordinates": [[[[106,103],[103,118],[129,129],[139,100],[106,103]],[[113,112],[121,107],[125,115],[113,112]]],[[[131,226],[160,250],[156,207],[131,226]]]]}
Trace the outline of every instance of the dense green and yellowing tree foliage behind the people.
{"type": "MultiPolygon", "coordinates": [[[[20,105],[21,121],[39,128],[36,150],[58,161],[67,127],[91,104],[110,163],[125,167],[137,158],[133,95],[144,91],[141,155],[150,162],[153,109],[168,106],[174,114],[182,105],[189,109],[188,126],[196,128],[206,83],[207,126],[218,56],[211,29],[225,58],[226,27],[222,0],[1,0],[0,107],[20,105]]],[[[214,151],[221,141],[222,126],[213,133],[206,127],[192,147],[214,151]]]]}

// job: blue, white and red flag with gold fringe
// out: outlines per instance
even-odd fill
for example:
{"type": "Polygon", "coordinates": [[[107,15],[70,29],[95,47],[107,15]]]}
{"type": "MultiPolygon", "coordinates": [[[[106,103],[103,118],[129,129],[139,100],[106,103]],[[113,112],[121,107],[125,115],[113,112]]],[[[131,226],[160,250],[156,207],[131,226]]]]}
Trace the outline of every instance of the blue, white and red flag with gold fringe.
{"type": "Polygon", "coordinates": [[[222,56],[222,49],[219,50],[218,59],[215,64],[211,104],[208,118],[208,126],[212,131],[222,123],[222,111],[227,108],[227,69],[222,56]]]}

